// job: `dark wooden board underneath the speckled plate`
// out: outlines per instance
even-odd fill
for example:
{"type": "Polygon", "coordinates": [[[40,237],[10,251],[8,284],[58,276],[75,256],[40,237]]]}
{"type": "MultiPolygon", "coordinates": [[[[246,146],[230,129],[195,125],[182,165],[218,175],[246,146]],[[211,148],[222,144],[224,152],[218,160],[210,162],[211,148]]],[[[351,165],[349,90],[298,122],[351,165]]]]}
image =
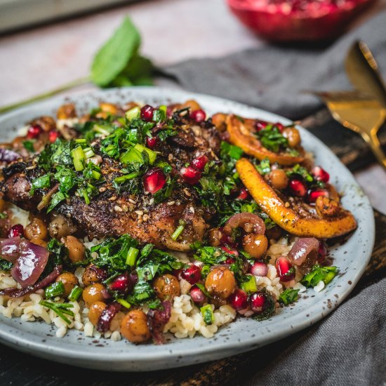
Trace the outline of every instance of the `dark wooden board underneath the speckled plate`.
{"type": "MultiPolygon", "coordinates": [[[[323,140],[333,152],[352,170],[369,166],[373,155],[355,133],[345,130],[333,121],[326,112],[305,119],[302,124],[323,140]]],[[[382,143],[386,145],[383,131],[382,143]]],[[[364,276],[353,293],[357,293],[372,281],[386,274],[386,215],[375,211],[375,248],[364,276]]],[[[310,327],[310,329],[313,327],[310,327]]],[[[309,330],[310,330],[309,329],[309,330]]],[[[241,378],[253,375],[259,361],[262,368],[277,357],[279,352],[289,347],[300,331],[289,338],[275,342],[263,349],[239,354],[220,361],[208,362],[166,371],[151,373],[107,373],[75,368],[63,364],[22,354],[0,345],[0,385],[1,386],[117,386],[117,385],[241,385],[241,378]],[[262,354],[262,350],[264,354],[262,354]]]]}

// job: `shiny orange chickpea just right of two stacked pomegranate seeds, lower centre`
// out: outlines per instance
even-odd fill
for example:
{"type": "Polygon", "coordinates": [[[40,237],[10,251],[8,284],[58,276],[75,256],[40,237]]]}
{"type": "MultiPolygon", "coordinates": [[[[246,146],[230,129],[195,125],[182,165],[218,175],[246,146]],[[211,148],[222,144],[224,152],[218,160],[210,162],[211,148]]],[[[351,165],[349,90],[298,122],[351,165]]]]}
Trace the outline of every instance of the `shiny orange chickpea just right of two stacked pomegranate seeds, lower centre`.
{"type": "Polygon", "coordinates": [[[236,287],[233,272],[227,267],[215,267],[205,281],[206,290],[222,299],[228,298],[236,287]]]}

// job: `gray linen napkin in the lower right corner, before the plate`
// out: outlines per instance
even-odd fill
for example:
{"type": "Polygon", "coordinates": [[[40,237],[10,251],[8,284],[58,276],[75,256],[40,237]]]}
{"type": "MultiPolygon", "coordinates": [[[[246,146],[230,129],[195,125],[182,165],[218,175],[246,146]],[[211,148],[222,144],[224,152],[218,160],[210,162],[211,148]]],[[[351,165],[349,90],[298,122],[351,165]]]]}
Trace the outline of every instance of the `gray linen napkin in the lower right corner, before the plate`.
{"type": "Polygon", "coordinates": [[[306,333],[254,352],[253,371],[236,384],[385,386],[386,279],[359,289],[306,333]]]}

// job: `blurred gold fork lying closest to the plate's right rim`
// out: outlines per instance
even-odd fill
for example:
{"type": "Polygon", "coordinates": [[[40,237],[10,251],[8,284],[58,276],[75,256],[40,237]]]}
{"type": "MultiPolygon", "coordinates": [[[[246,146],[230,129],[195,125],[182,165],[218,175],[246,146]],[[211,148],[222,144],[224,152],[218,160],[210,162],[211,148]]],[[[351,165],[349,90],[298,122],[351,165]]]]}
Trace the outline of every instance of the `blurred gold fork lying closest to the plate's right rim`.
{"type": "Polygon", "coordinates": [[[386,170],[386,154],[377,136],[386,119],[386,109],[380,101],[360,91],[312,91],[312,94],[324,100],[336,121],[361,135],[386,170]]]}

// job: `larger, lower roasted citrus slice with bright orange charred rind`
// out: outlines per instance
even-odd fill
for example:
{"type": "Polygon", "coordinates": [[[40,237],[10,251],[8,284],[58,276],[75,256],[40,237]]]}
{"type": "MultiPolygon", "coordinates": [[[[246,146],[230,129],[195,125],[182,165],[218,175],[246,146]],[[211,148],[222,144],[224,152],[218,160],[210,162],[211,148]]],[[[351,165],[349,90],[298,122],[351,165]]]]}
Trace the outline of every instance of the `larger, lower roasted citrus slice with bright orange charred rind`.
{"type": "Polygon", "coordinates": [[[302,218],[277,196],[255,166],[248,159],[241,158],[236,164],[237,172],[249,193],[267,215],[281,228],[301,237],[331,239],[342,236],[357,228],[354,216],[340,208],[333,218],[302,218]]]}

